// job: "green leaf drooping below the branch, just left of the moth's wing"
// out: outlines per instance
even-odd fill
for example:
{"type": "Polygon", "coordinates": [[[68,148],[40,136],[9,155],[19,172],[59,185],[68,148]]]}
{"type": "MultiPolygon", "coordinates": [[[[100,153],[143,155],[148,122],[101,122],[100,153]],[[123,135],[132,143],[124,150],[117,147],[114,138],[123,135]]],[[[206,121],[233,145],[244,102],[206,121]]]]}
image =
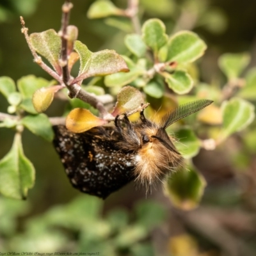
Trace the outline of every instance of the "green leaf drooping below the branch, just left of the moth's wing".
{"type": "Polygon", "coordinates": [[[22,118],[22,124],[34,134],[44,138],[47,141],[52,141],[54,133],[49,118],[45,114],[28,115],[22,118]]]}

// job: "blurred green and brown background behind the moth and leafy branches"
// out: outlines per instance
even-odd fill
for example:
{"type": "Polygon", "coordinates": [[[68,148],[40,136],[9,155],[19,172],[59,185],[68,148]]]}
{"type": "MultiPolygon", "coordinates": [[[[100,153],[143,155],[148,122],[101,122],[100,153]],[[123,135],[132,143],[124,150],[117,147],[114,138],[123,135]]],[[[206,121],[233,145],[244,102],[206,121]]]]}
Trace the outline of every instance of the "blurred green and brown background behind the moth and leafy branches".
{"type": "MultiPolygon", "coordinates": [[[[172,6],[174,0],[169,2],[172,6]]],[[[159,17],[171,34],[179,29],[177,20],[186,2],[175,1],[170,15],[168,10],[145,8],[145,4],[141,15],[143,20],[159,17]]],[[[125,33],[102,19],[86,17],[92,3],[74,1],[70,24],[79,29],[79,40],[93,52],[115,49],[124,54],[125,33]]],[[[126,6],[125,0],[113,3],[120,8],[126,6]]],[[[200,12],[205,3],[195,1],[193,8],[200,12]]],[[[20,33],[19,16],[24,16],[29,33],[49,28],[58,31],[61,4],[60,0],[0,0],[0,76],[15,81],[29,74],[51,79],[33,63],[20,33]]],[[[207,4],[207,12],[214,10],[215,16],[209,12],[201,24],[193,26],[193,15],[188,13],[181,24],[183,29],[198,33],[208,45],[199,63],[201,81],[212,83],[219,79],[224,84],[225,77],[218,68],[218,57],[224,52],[250,52],[248,68],[256,65],[256,2],[209,0],[207,4]]],[[[0,95],[0,111],[6,113],[7,106],[0,95]]],[[[63,103],[55,100],[47,115],[60,116],[62,111],[63,103]]],[[[0,158],[12,146],[13,134],[10,129],[0,130],[0,158]]],[[[153,189],[147,199],[145,190],[133,183],[104,202],[83,196],[70,186],[51,143],[29,131],[24,132],[22,141],[26,156],[35,166],[36,182],[26,202],[0,197],[0,252],[256,255],[256,146],[237,154],[240,148],[244,150],[241,136],[233,136],[213,152],[201,150],[195,157],[194,163],[208,186],[202,203],[191,212],[173,208],[161,186],[153,189]],[[148,228],[140,229],[139,224],[148,228]]]]}

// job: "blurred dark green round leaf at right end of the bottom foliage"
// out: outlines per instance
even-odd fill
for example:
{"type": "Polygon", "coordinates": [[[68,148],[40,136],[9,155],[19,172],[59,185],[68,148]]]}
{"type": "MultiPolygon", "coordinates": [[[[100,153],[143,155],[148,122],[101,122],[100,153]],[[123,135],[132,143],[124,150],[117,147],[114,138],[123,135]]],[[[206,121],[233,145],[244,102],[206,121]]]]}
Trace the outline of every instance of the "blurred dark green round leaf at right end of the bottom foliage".
{"type": "Polygon", "coordinates": [[[148,231],[157,227],[166,218],[166,211],[162,204],[143,201],[136,204],[136,222],[143,225],[148,231]]]}

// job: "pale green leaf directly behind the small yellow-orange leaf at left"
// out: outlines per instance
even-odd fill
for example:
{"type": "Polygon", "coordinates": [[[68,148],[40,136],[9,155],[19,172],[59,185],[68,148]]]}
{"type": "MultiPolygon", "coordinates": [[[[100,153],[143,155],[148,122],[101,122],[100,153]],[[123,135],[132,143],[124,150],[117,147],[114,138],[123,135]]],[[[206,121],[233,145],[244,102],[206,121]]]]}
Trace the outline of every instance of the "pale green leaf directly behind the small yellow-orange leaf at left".
{"type": "Polygon", "coordinates": [[[36,90],[42,87],[47,87],[48,85],[49,81],[41,77],[35,77],[31,75],[21,77],[17,81],[17,86],[23,99],[20,107],[26,110],[28,113],[37,114],[32,103],[33,94],[36,90]]]}

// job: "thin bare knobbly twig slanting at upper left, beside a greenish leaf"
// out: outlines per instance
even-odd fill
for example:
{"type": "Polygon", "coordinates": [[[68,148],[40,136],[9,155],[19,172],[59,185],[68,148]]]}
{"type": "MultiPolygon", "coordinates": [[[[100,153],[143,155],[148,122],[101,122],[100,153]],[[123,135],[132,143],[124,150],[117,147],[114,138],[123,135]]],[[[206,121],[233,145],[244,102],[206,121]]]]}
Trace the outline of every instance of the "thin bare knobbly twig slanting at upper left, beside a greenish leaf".
{"type": "Polygon", "coordinates": [[[38,56],[38,54],[36,53],[34,47],[32,46],[32,44],[30,42],[29,35],[28,35],[28,28],[25,27],[25,21],[22,16],[20,16],[20,23],[22,26],[21,33],[23,33],[26,38],[28,47],[34,57],[35,63],[38,64],[41,68],[43,68],[45,70],[45,72],[47,72],[50,76],[52,76],[54,79],[56,79],[60,84],[62,84],[63,81],[62,81],[61,77],[54,70],[49,68],[44,63],[44,61],[42,61],[42,58],[40,56],[38,56]]]}

